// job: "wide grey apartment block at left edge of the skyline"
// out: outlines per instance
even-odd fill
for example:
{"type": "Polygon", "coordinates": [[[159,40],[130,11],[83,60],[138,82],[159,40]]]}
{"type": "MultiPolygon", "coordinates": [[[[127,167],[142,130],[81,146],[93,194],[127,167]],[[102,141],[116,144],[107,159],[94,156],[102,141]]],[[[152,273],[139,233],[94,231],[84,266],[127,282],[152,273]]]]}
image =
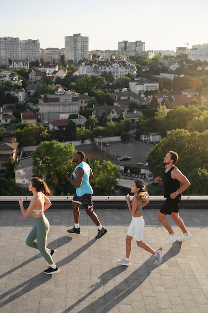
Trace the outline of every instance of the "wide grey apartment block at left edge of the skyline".
{"type": "Polygon", "coordinates": [[[8,64],[9,59],[40,61],[39,40],[0,37],[0,64],[8,64]]]}

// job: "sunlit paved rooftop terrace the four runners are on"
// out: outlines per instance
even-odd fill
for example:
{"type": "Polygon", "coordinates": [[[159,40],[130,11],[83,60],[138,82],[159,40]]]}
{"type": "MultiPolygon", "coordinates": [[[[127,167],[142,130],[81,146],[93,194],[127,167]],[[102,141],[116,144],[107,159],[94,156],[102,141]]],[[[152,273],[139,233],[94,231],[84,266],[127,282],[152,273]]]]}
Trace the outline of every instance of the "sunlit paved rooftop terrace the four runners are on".
{"type": "MultiPolygon", "coordinates": [[[[48,247],[57,248],[58,274],[46,275],[46,261],[25,245],[33,218],[0,210],[0,312],[2,313],[207,313],[208,209],[182,209],[193,238],[164,244],[167,231],[157,209],[144,209],[144,241],[162,247],[160,266],[132,241],[131,266],[125,255],[128,209],[95,210],[108,232],[95,239],[96,226],[84,210],[81,234],[69,234],[72,209],[49,209],[48,247]]],[[[172,222],[174,230],[181,231],[172,222]]]]}

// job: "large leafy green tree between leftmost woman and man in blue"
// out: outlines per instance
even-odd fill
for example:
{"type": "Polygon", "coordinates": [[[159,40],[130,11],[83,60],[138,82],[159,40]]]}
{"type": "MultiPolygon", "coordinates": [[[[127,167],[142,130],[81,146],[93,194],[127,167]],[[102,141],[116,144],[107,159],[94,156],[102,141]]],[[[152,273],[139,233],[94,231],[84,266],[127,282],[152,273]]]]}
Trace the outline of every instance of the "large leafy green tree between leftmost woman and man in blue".
{"type": "Polygon", "coordinates": [[[46,177],[55,195],[73,194],[74,188],[65,179],[65,173],[73,172],[72,156],[75,148],[71,144],[62,145],[58,141],[42,141],[32,152],[33,175],[46,177]]]}

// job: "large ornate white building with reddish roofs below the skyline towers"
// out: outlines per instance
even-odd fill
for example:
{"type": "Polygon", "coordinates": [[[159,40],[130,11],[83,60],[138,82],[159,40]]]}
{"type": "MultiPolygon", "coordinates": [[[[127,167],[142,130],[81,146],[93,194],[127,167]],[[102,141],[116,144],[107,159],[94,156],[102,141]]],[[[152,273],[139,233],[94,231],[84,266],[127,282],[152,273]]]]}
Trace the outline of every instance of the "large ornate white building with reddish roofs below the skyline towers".
{"type": "Polygon", "coordinates": [[[101,75],[104,72],[111,72],[115,80],[130,73],[132,77],[136,76],[137,68],[129,63],[124,56],[121,60],[116,60],[115,56],[110,60],[97,59],[91,57],[79,65],[80,75],[101,75]]]}

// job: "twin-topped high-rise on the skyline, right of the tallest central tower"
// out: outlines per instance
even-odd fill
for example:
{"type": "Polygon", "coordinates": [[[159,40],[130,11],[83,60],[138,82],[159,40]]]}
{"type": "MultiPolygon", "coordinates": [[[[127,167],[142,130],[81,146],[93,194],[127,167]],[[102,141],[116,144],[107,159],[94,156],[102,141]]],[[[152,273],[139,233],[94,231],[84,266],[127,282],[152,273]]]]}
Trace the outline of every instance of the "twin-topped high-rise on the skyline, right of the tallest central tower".
{"type": "Polygon", "coordinates": [[[118,43],[118,51],[125,53],[127,56],[140,54],[142,51],[145,51],[145,42],[141,40],[134,42],[123,40],[118,43]]]}

